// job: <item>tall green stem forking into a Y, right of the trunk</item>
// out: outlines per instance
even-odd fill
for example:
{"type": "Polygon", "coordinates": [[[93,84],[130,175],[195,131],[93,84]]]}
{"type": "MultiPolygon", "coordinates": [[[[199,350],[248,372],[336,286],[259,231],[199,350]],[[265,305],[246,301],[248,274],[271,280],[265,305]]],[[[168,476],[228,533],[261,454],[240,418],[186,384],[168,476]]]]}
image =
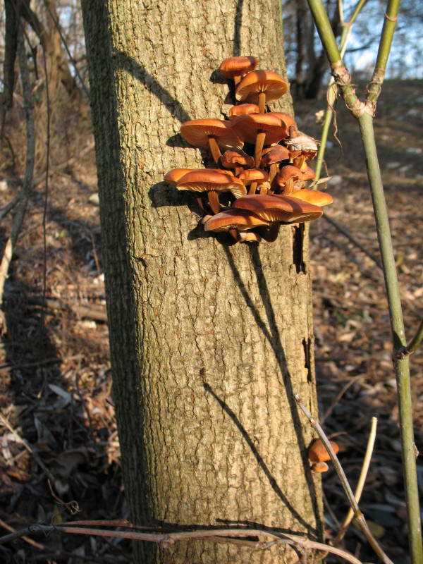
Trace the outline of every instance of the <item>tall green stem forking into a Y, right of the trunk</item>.
{"type": "MultiPolygon", "coordinates": [[[[389,317],[393,334],[393,348],[395,351],[406,347],[403,311],[400,302],[400,290],[396,264],[393,255],[391,231],[388,223],[388,210],[384,195],[384,186],[379,168],[379,160],[374,139],[373,117],[376,102],[384,79],[386,63],[391,49],[393,32],[400,0],[388,0],[384,28],[382,30],[376,68],[367,89],[367,100],[361,102],[355,94],[351,84],[351,76],[343,65],[341,54],[336,44],[335,36],[324,5],[321,0],[308,0],[310,10],[317,26],[319,37],[331,63],[333,78],[341,89],[345,106],[358,119],[362,144],[367,166],[370,190],[379,239],[386,295],[388,298],[389,317]],[[377,86],[377,89],[376,89],[377,86]],[[377,90],[377,92],[376,92],[377,90]]],[[[412,400],[410,386],[410,367],[408,357],[397,358],[394,355],[394,369],[398,388],[398,407],[400,413],[400,434],[403,455],[403,470],[405,480],[405,498],[407,501],[407,520],[409,530],[410,553],[413,564],[423,563],[422,525],[419,511],[419,491],[417,486],[417,470],[415,461],[415,443],[412,427],[412,400]]]]}

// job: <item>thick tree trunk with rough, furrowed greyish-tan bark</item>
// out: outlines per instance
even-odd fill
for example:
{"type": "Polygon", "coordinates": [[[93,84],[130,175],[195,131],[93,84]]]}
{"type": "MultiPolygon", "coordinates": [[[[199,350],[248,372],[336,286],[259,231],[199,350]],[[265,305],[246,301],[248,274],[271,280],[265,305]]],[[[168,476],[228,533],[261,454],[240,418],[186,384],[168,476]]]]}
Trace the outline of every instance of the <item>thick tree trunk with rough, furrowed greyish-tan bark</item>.
{"type": "MultiPolygon", "coordinates": [[[[307,235],[302,256],[301,228],[231,246],[205,236],[195,199],[162,181],[202,166],[178,131],[230,107],[221,60],[252,54],[284,73],[279,5],[82,1],[114,398],[138,523],[321,529],[312,435],[293,400],[315,412],[307,235]]],[[[290,111],[290,98],[272,109],[290,111]]],[[[156,556],[139,545],[135,560],[276,563],[287,550],[191,541],[156,556]]]]}

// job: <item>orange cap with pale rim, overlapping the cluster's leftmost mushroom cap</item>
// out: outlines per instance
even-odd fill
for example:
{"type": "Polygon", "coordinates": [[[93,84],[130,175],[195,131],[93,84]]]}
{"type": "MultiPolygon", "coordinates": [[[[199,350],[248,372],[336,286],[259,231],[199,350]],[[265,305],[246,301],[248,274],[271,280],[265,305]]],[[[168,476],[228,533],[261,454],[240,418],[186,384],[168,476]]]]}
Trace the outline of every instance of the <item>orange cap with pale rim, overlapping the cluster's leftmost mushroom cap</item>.
{"type": "Polygon", "coordinates": [[[214,168],[204,168],[192,171],[180,178],[176,185],[178,190],[192,190],[193,192],[232,192],[235,198],[246,194],[245,185],[235,178],[229,171],[219,171],[214,168]]]}

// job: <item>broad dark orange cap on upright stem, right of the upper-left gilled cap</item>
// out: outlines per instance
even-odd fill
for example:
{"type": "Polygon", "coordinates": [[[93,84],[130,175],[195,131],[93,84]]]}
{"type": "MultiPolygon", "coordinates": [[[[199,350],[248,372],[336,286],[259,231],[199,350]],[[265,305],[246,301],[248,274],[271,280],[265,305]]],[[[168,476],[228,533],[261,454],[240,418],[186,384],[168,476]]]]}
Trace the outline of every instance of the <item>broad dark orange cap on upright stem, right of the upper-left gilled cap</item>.
{"type": "Polygon", "coordinates": [[[247,116],[237,116],[231,121],[232,128],[247,143],[255,143],[257,132],[266,133],[264,145],[271,145],[285,139],[288,129],[283,121],[268,114],[248,114],[247,116]]]}

